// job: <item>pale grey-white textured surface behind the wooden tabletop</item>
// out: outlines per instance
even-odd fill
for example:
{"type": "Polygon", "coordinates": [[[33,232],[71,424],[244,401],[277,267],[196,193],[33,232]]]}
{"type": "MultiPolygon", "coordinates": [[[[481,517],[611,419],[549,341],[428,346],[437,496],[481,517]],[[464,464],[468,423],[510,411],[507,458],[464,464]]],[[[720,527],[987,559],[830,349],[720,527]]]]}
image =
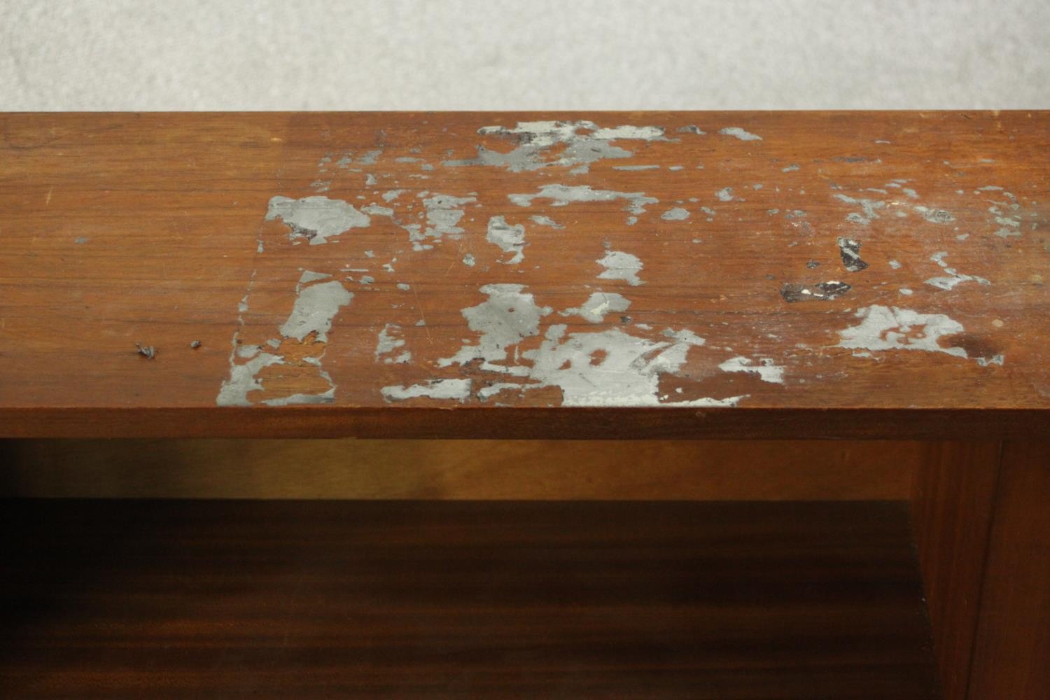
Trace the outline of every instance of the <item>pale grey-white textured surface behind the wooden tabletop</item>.
{"type": "Polygon", "coordinates": [[[0,109],[1050,107],[1050,0],[0,0],[0,109]]]}

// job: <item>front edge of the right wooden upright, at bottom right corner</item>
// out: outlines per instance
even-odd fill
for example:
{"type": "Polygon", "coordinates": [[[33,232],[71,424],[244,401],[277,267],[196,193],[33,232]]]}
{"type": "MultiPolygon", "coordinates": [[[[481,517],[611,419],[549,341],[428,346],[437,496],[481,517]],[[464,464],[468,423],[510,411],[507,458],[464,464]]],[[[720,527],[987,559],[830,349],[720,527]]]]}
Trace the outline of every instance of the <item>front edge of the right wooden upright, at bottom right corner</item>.
{"type": "Polygon", "coordinates": [[[968,700],[1050,697],[1050,443],[1006,443],[968,700]]]}

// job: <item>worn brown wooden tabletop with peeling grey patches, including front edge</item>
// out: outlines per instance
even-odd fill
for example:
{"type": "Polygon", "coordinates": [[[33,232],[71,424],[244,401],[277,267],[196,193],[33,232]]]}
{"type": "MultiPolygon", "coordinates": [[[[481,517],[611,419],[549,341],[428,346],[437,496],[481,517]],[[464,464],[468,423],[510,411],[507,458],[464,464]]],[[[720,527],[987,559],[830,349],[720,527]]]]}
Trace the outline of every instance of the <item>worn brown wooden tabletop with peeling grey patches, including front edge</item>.
{"type": "Polygon", "coordinates": [[[0,115],[0,434],[1046,437],[1050,112],[0,115]]]}

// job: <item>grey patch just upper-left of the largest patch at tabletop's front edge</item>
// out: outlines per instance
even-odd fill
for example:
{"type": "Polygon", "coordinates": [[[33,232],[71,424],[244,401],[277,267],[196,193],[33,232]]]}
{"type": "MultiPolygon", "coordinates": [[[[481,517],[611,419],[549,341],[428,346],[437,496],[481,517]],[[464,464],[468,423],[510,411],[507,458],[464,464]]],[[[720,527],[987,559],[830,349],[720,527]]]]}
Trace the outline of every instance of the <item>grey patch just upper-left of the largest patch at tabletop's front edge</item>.
{"type": "Polygon", "coordinates": [[[507,348],[523,338],[540,334],[540,319],[551,313],[549,306],[539,306],[536,298],[522,284],[486,284],[481,293],[488,299],[461,313],[471,331],[479,334],[477,345],[464,345],[450,358],[438,360],[438,366],[482,361],[490,372],[527,374],[525,367],[497,364],[507,359],[507,348]]]}

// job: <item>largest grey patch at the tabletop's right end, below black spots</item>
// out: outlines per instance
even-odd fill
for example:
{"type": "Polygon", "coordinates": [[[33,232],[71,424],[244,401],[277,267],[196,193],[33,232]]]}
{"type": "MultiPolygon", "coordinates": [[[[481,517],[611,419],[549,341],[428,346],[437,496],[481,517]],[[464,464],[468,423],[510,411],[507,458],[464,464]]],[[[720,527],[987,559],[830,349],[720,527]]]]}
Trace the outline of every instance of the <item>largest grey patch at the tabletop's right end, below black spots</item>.
{"type": "Polygon", "coordinates": [[[839,347],[867,351],[912,349],[966,357],[962,347],[943,347],[939,339],[963,333],[963,324],[944,314],[872,305],[859,309],[859,325],[839,331],[839,347]]]}

